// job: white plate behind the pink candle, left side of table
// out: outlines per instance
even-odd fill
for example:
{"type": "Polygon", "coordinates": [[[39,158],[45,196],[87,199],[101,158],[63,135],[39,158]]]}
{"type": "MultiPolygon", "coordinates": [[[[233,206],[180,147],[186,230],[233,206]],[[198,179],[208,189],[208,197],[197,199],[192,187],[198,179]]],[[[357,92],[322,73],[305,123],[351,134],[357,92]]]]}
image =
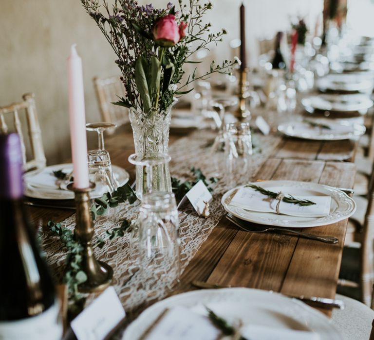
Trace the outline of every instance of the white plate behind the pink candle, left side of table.
{"type": "MultiPolygon", "coordinates": [[[[25,196],[31,197],[31,198],[45,199],[45,200],[72,200],[74,199],[74,192],[70,190],[58,189],[57,187],[56,188],[39,187],[39,186],[31,184],[30,183],[31,178],[43,170],[44,171],[48,170],[51,172],[51,174],[53,173],[53,171],[57,171],[57,170],[62,170],[66,173],[70,173],[73,170],[73,164],[72,163],[55,164],[55,165],[46,167],[42,170],[34,170],[34,171],[27,172],[23,176],[23,180],[25,184],[25,193],[24,193],[25,196]]],[[[126,170],[116,165],[112,165],[112,170],[120,186],[123,186],[127,182],[129,182],[130,175],[126,170]]],[[[97,198],[97,197],[101,197],[102,193],[95,194],[95,191],[93,191],[90,195],[91,195],[91,198],[97,198]]]]}

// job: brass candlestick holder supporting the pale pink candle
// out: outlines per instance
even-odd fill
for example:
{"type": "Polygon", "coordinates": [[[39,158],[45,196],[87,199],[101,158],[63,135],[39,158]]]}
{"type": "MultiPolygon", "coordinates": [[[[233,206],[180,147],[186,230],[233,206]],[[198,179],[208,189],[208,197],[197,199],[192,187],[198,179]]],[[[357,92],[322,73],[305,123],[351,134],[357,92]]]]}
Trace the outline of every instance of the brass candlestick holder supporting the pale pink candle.
{"type": "Polygon", "coordinates": [[[82,270],[87,275],[86,282],[79,285],[82,292],[100,291],[112,283],[113,270],[105,262],[96,260],[91,246],[91,240],[94,234],[93,221],[90,208],[89,192],[95,185],[91,183],[88,188],[75,188],[69,184],[68,189],[75,193],[75,236],[80,240],[83,246],[82,252],[82,270]]]}

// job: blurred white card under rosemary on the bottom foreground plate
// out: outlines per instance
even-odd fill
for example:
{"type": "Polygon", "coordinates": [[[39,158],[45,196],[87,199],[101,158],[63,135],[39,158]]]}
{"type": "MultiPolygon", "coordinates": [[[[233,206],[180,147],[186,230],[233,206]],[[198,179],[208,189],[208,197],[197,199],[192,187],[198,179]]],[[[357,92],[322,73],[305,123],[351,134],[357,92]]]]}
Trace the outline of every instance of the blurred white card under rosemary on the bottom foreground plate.
{"type": "MultiPolygon", "coordinates": [[[[240,330],[246,340],[319,340],[316,333],[271,326],[246,325],[240,330]]],[[[243,339],[241,338],[241,339],[243,339]]],[[[218,340],[224,337],[210,320],[182,306],[167,309],[141,340],[218,340]]]]}

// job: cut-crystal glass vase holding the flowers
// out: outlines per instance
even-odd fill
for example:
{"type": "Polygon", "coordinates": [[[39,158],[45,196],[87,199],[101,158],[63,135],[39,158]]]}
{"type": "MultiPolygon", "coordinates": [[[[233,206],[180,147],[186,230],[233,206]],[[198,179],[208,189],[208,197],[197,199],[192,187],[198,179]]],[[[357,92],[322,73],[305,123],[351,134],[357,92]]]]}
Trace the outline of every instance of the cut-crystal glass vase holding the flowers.
{"type": "MultiPolygon", "coordinates": [[[[171,106],[164,111],[151,111],[149,114],[133,108],[129,112],[135,153],[144,156],[154,153],[168,154],[171,106]]],[[[147,192],[147,170],[136,166],[136,196],[141,200],[147,192]]],[[[152,187],[155,191],[171,192],[168,162],[152,169],[152,187]]]]}

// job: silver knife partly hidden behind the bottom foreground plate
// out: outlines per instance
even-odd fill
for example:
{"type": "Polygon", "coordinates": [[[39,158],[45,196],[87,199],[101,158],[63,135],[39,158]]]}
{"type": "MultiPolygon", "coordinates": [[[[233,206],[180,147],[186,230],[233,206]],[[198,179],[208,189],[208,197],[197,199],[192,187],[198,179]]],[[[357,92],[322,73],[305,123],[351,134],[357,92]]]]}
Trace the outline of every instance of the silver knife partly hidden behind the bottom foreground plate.
{"type": "MultiPolygon", "coordinates": [[[[221,288],[232,288],[231,286],[223,286],[223,285],[218,285],[218,284],[210,284],[207,282],[203,281],[192,281],[191,285],[196,287],[196,288],[201,288],[201,289],[221,289],[221,288]]],[[[344,309],[344,302],[341,300],[336,300],[336,299],[329,299],[329,298],[323,298],[323,297],[318,297],[318,296],[310,296],[306,297],[304,295],[301,296],[294,296],[294,295],[288,295],[288,294],[283,294],[285,296],[288,296],[290,298],[298,299],[302,302],[305,302],[308,305],[312,305],[315,307],[319,308],[339,308],[339,309],[344,309]]]]}

